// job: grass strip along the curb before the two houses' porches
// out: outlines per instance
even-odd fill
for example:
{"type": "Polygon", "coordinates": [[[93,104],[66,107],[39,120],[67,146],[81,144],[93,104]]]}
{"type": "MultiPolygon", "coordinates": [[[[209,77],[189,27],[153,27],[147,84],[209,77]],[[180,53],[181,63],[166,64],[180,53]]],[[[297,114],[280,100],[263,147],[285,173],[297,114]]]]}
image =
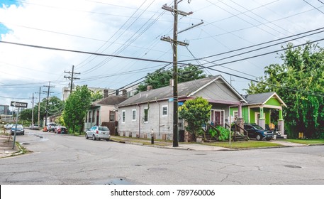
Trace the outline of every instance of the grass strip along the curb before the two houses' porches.
{"type": "Polygon", "coordinates": [[[262,147],[272,147],[272,146],[282,146],[281,144],[276,144],[271,141],[218,141],[214,143],[205,143],[209,146],[220,146],[230,149],[247,149],[247,148],[262,148],[262,147]]]}

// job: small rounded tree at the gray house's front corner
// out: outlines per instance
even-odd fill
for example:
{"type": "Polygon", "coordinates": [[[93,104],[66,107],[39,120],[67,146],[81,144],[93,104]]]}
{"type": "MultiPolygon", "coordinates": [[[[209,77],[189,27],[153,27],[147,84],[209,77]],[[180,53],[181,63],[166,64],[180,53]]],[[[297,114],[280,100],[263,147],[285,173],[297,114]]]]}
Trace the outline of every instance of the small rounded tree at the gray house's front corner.
{"type": "Polygon", "coordinates": [[[211,104],[206,99],[196,97],[189,99],[179,107],[179,116],[186,120],[186,130],[193,136],[201,134],[201,127],[206,124],[211,115],[211,104]]]}

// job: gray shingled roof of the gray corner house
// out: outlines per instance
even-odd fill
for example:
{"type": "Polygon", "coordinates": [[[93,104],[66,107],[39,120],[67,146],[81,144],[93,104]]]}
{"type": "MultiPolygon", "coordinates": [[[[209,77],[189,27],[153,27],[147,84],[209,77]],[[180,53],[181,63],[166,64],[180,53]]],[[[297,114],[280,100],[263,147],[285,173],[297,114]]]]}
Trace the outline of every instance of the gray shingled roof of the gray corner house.
{"type": "MultiPolygon", "coordinates": [[[[235,93],[235,95],[238,96],[238,98],[245,101],[245,99],[235,89],[233,89],[233,87],[231,87],[223,79],[221,75],[179,83],[178,97],[184,98],[184,97],[189,97],[191,95],[194,95],[196,92],[202,90],[204,87],[210,85],[212,82],[215,82],[216,80],[223,80],[223,82],[225,82],[225,84],[230,88],[230,90],[232,90],[235,93]]],[[[173,89],[171,86],[161,87],[154,90],[140,92],[137,95],[134,95],[133,97],[126,99],[124,102],[121,102],[121,104],[118,104],[118,107],[128,106],[132,104],[140,104],[140,103],[145,103],[150,101],[167,100],[172,97],[173,97],[173,89]]]]}

